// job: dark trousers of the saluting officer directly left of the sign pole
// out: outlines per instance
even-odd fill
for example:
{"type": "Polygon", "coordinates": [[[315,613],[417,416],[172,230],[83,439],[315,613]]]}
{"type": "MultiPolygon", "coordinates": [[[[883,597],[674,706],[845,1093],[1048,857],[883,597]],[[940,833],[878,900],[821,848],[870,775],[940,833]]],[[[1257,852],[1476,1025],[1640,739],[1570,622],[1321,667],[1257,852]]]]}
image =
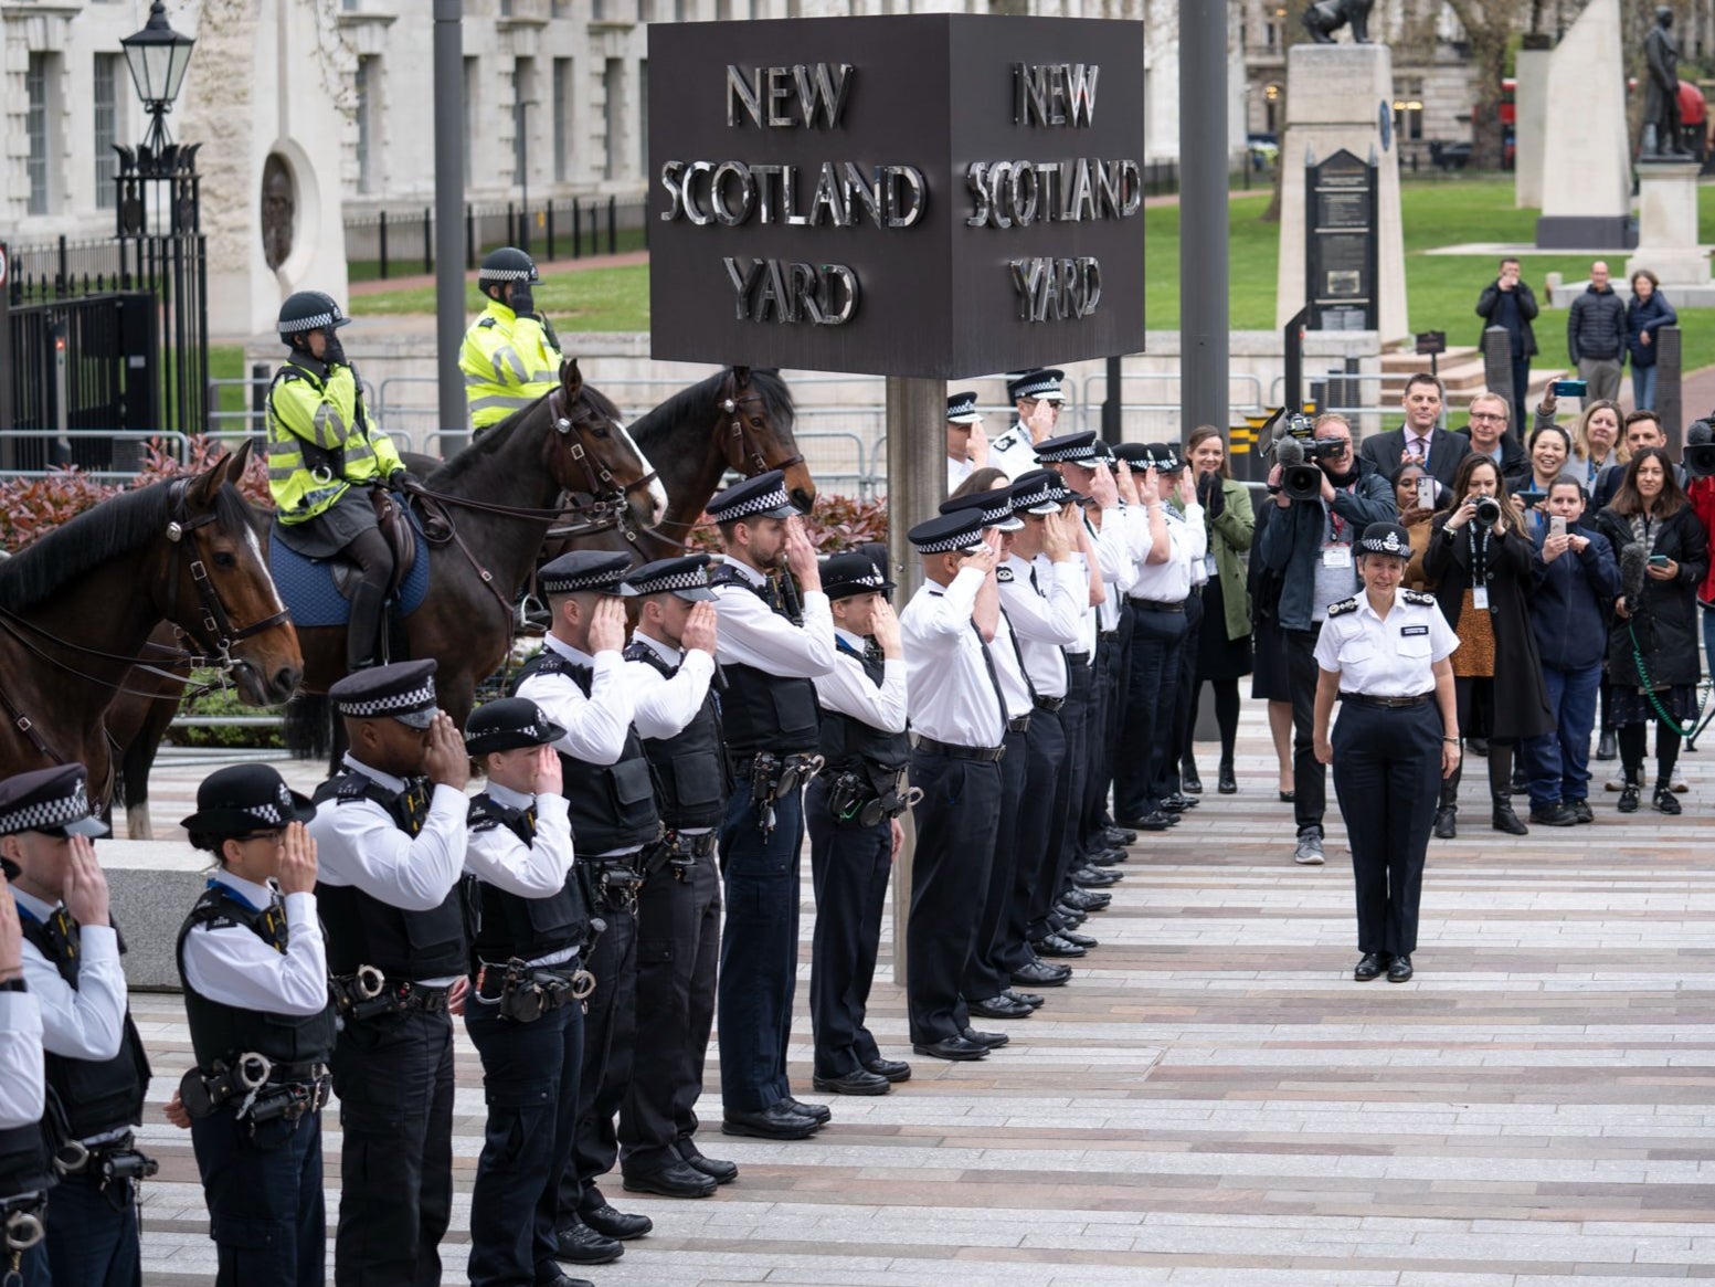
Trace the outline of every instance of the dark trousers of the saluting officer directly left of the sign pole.
{"type": "Polygon", "coordinates": [[[887,877],[894,868],[894,824],[837,825],[828,782],[804,793],[809,879],[816,891],[816,932],[809,946],[809,1026],[815,1071],[842,1078],[882,1057],[864,1024],[875,959],[882,949],[887,877]]]}

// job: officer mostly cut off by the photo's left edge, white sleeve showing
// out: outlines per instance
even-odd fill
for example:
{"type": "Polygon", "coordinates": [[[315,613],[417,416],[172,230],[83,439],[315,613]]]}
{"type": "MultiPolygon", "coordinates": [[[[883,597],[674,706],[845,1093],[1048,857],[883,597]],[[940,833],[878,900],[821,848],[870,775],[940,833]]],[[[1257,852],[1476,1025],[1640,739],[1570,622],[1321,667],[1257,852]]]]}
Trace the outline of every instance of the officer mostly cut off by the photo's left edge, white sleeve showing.
{"type": "Polygon", "coordinates": [[[24,982],[24,932],[12,901],[10,858],[0,858],[0,1272],[22,1287],[46,1287],[41,1248],[46,1193],[53,1184],[41,1134],[46,1072],[41,1000],[24,982]]]}

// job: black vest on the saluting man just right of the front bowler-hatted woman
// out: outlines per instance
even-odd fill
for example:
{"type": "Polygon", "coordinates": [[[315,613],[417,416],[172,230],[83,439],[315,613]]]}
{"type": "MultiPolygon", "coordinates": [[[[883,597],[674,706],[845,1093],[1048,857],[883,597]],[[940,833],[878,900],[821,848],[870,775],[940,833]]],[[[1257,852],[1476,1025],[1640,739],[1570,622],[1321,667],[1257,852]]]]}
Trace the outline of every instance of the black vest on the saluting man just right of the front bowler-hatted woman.
{"type": "MultiPolygon", "coordinates": [[[[417,786],[418,781],[408,786],[417,786]]],[[[341,769],[316,788],[314,798],[317,805],[333,800],[334,808],[370,800],[406,836],[415,837],[422,831],[422,819],[406,812],[403,793],[389,791],[367,774],[341,769]]],[[[458,882],[453,882],[439,906],[405,911],[357,885],[317,882],[316,903],[328,930],[328,971],[352,975],[367,964],[386,975],[388,982],[463,975],[465,915],[458,894],[458,882]]]]}

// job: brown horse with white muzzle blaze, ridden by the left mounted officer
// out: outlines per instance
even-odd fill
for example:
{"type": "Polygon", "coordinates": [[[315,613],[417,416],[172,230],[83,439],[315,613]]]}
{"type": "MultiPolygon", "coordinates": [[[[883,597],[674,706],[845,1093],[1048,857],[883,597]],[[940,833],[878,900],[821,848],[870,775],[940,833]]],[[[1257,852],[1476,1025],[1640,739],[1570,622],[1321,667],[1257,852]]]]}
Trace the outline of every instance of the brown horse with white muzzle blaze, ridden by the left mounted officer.
{"type": "MultiPolygon", "coordinates": [[[[477,683],[506,661],[513,599],[559,513],[561,492],[578,496],[581,511],[599,522],[635,527],[657,522],[664,506],[660,484],[626,434],[619,408],[583,383],[576,360],[563,364],[554,393],[432,468],[424,482],[427,505],[446,517],[454,537],[436,549],[429,594],[403,621],[405,656],[439,662],[441,707],[460,726],[477,683]]],[[[345,628],[312,626],[302,638],[304,692],[288,721],[309,753],[321,753],[331,731],[322,695],[345,674],[345,628]]],[[[178,690],[172,688],[159,700],[122,695],[110,712],[113,736],[125,746],[125,822],[134,839],[149,834],[149,769],[177,712],[178,690]]]]}

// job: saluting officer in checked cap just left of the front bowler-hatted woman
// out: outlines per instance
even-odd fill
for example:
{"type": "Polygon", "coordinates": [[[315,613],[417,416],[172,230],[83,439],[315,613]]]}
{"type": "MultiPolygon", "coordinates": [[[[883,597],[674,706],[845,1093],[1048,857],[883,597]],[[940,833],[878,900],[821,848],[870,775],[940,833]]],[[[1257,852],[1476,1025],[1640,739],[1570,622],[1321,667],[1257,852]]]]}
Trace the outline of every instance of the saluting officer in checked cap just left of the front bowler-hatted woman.
{"type": "Polygon", "coordinates": [[[65,1115],[60,1157],[74,1160],[53,1191],[48,1278],[74,1287],[142,1282],[137,1181],[154,1174],[132,1133],[149,1060],[127,1009],[123,949],[89,843],[106,834],[89,817],[81,764],[0,782],[0,856],[17,868],[24,980],[41,1000],[48,1086],[65,1115]]]}

